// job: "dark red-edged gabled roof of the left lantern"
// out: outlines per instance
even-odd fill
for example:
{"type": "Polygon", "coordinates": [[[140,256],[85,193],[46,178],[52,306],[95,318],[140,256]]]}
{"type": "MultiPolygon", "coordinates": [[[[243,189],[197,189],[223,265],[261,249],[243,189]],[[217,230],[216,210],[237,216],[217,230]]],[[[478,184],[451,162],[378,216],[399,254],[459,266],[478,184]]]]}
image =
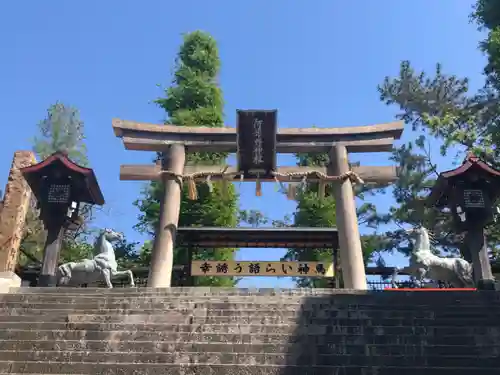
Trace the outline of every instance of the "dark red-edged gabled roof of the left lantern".
{"type": "Polygon", "coordinates": [[[77,190],[77,197],[80,202],[100,206],[104,204],[104,197],[94,171],[91,168],[74,163],[65,152],[55,152],[40,163],[21,169],[21,173],[39,200],[42,180],[47,175],[53,174],[54,171],[69,175],[74,183],[74,188],[77,190]]]}

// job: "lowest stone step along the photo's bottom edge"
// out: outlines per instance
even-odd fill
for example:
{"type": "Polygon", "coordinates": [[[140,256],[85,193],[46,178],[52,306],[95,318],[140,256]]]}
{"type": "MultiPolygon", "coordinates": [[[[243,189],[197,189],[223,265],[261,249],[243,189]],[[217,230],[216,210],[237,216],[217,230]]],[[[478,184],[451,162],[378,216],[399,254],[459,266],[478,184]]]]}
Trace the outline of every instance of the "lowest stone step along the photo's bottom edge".
{"type": "MultiPolygon", "coordinates": [[[[476,363],[478,361],[476,360],[476,363]]],[[[163,364],[163,363],[65,363],[65,362],[0,362],[0,374],[99,374],[99,375],[498,375],[498,367],[443,368],[441,365],[430,367],[391,366],[262,366],[262,365],[202,365],[202,364],[163,364]]]]}

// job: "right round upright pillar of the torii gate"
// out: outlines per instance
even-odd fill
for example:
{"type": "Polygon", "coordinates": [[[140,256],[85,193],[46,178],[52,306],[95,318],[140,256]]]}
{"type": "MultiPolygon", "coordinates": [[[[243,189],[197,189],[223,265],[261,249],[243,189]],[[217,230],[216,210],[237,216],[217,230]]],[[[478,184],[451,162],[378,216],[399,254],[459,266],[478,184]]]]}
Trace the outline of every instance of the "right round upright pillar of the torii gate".
{"type": "MultiPolygon", "coordinates": [[[[344,145],[337,144],[332,147],[330,169],[329,174],[335,176],[349,171],[347,149],[344,145]]],[[[333,191],[344,287],[346,289],[366,290],[365,266],[352,183],[349,179],[337,182],[334,184],[333,191]]]]}

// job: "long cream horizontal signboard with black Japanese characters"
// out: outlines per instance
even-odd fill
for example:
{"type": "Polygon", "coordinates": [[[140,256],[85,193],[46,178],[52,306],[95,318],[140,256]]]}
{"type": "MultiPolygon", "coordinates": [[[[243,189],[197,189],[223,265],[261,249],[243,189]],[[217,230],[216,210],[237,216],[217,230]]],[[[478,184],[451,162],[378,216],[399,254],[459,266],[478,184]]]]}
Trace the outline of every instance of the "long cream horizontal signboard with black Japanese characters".
{"type": "Polygon", "coordinates": [[[191,263],[192,276],[309,276],[333,277],[333,263],[322,262],[237,262],[204,261],[191,263]]]}

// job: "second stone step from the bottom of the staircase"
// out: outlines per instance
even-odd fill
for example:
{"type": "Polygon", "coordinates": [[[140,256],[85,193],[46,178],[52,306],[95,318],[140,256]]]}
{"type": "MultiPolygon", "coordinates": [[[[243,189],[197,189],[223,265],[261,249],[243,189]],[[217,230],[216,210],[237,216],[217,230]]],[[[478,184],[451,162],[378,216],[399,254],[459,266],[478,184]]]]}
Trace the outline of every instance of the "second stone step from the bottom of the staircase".
{"type": "Polygon", "coordinates": [[[374,355],[294,353],[231,353],[231,352],[89,352],[89,351],[5,351],[0,350],[0,361],[61,362],[61,363],[137,363],[137,364],[217,364],[217,365],[280,365],[298,366],[455,366],[477,367],[478,361],[486,368],[498,366],[497,356],[472,355],[374,355]]]}

